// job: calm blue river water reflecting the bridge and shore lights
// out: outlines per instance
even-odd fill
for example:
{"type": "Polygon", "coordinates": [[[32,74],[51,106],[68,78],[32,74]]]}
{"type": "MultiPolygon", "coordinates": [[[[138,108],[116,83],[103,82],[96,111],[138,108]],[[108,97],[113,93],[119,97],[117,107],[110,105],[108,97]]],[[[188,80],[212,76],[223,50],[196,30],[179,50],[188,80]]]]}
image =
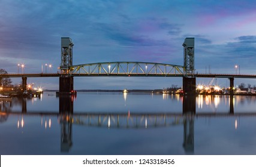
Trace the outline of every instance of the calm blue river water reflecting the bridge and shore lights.
{"type": "Polygon", "coordinates": [[[232,109],[228,96],[198,96],[195,116],[183,101],[79,92],[68,115],[53,92],[13,98],[0,105],[0,154],[256,154],[256,97],[236,96],[232,109]]]}

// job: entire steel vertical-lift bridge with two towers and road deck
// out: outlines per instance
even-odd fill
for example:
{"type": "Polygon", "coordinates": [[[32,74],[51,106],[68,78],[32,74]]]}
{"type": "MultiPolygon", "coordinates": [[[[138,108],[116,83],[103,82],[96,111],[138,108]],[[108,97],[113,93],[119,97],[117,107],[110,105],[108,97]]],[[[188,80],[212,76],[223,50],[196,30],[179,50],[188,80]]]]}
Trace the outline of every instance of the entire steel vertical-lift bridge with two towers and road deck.
{"type": "MultiPolygon", "coordinates": [[[[234,87],[234,78],[256,78],[256,75],[206,74],[196,73],[194,68],[194,38],[183,42],[183,66],[164,63],[116,61],[73,65],[73,42],[70,38],[61,38],[61,66],[58,73],[14,73],[1,74],[0,78],[22,78],[22,88],[26,90],[26,79],[37,77],[58,77],[59,92],[70,94],[74,89],[74,77],[78,76],[147,76],[182,77],[185,94],[195,94],[196,78],[228,78],[230,87],[234,87]]],[[[234,94],[231,89],[230,94],[234,94]]]]}

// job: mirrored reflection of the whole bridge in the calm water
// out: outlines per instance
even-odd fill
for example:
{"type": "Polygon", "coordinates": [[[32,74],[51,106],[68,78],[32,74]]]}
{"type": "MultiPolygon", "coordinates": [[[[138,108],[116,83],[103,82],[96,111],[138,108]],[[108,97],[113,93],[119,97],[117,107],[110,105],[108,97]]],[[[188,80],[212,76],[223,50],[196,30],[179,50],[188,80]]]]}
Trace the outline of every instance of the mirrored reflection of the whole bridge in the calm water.
{"type": "Polygon", "coordinates": [[[246,116],[254,113],[234,113],[234,98],[230,97],[229,113],[196,113],[195,96],[183,96],[182,113],[73,113],[74,95],[59,96],[59,113],[56,112],[27,112],[26,98],[23,98],[22,112],[11,112],[6,103],[0,103],[1,122],[8,115],[40,115],[58,116],[61,125],[61,151],[70,151],[73,146],[73,124],[94,126],[99,128],[159,128],[183,125],[183,148],[186,153],[194,152],[194,119],[195,117],[215,116],[246,116]]]}

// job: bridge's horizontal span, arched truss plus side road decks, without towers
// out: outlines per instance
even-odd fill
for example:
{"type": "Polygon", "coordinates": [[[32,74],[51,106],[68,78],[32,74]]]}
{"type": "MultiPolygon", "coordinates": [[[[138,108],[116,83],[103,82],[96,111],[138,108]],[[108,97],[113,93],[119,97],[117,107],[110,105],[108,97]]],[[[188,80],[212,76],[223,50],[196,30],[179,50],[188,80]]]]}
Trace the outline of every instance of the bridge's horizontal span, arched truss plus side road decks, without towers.
{"type": "MultiPolygon", "coordinates": [[[[0,77],[10,78],[37,78],[37,77],[60,77],[64,73],[8,73],[0,77]]],[[[89,63],[72,66],[69,76],[164,76],[183,77],[185,76],[183,66],[164,63],[116,61],[104,63],[89,63]]],[[[186,75],[196,78],[256,78],[256,75],[246,74],[216,74],[197,73],[186,75]]]]}

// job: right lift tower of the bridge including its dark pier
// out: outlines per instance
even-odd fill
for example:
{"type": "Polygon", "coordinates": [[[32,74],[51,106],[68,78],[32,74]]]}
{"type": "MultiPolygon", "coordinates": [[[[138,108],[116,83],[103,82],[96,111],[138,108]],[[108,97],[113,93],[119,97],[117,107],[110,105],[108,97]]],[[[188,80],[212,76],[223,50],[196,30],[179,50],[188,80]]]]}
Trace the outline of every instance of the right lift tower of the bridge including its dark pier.
{"type": "Polygon", "coordinates": [[[195,38],[186,38],[182,44],[184,47],[183,91],[188,95],[195,94],[194,41],[195,38]]]}

